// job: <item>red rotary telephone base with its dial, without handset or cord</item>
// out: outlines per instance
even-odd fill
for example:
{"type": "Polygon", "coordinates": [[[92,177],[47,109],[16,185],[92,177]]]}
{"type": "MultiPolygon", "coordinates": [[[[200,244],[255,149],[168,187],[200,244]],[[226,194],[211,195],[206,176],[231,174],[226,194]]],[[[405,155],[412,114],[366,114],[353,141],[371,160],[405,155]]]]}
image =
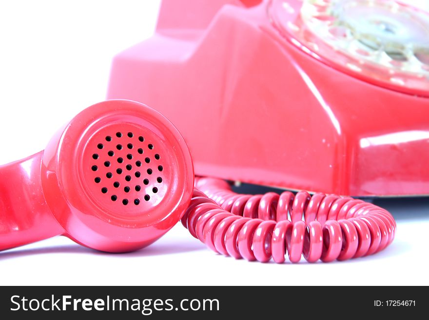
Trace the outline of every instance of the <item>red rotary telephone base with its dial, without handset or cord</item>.
{"type": "Polygon", "coordinates": [[[428,17],[392,0],[163,0],[107,96],[173,121],[197,175],[427,195],[428,17]]]}

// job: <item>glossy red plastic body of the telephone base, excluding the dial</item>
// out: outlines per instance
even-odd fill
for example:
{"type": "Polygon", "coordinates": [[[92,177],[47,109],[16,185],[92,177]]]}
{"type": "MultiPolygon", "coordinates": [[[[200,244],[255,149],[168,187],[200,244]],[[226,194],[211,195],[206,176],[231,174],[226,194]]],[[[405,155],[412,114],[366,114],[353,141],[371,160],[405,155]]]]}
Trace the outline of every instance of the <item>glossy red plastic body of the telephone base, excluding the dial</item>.
{"type": "Polygon", "coordinates": [[[281,32],[271,4],[162,1],[155,35],[115,57],[108,97],[171,119],[198,175],[354,196],[429,194],[429,99],[332,67],[281,32]]]}

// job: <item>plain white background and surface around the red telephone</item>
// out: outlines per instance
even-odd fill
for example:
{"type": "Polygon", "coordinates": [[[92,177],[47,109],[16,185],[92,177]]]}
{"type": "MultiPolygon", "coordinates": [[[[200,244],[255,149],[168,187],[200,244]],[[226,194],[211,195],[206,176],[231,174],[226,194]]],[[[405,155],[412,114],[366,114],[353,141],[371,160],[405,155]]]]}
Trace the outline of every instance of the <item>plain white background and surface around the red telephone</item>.
{"type": "MultiPolygon", "coordinates": [[[[42,150],[63,123],[103,100],[112,57],[150,37],[158,9],[156,0],[2,0],[0,164],[42,150]]],[[[234,260],[206,249],[178,224],[128,254],[96,252],[64,237],[0,252],[0,284],[428,285],[429,199],[377,204],[394,214],[396,239],[379,254],[348,262],[234,260]]]]}

